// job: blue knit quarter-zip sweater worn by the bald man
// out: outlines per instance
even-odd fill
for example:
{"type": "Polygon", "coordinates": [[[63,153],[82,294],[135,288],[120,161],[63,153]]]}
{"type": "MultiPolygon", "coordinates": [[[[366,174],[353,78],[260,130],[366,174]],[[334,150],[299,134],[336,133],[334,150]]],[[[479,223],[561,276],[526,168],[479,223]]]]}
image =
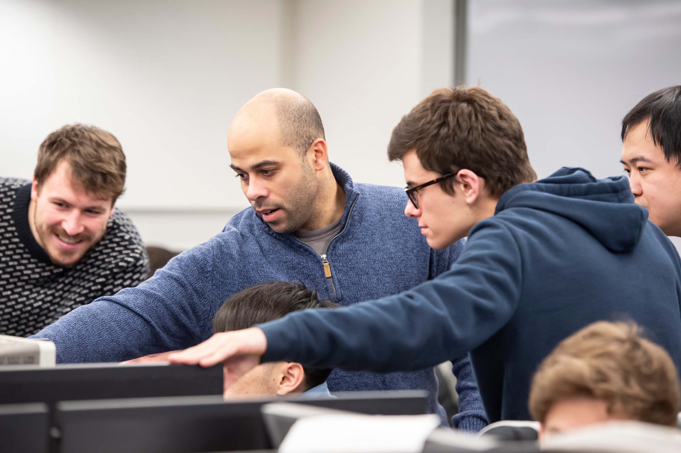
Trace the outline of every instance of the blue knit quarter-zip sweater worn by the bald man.
{"type": "MultiPolygon", "coordinates": [[[[229,219],[223,232],[178,255],[153,278],[79,307],[35,337],[54,341],[58,362],[127,360],[204,341],[223,302],[255,283],[298,281],[316,289],[320,298],[350,305],[408,290],[452,266],[464,243],[439,252],[430,249],[415,221],[404,215],[402,189],[353,184],[345,171],[331,165],[346,198],[343,228],[326,253],[331,277],[325,277],[314,249],[291,234],[275,233],[247,208],[229,219]]],[[[348,332],[350,337],[358,334],[348,332]]],[[[479,431],[486,426],[484,409],[469,359],[465,352],[461,356],[454,360],[461,410],[454,424],[479,431]]],[[[445,360],[450,359],[456,357],[445,360]]],[[[430,368],[378,375],[336,370],[328,385],[332,392],[425,389],[428,409],[447,423],[430,368]]]]}

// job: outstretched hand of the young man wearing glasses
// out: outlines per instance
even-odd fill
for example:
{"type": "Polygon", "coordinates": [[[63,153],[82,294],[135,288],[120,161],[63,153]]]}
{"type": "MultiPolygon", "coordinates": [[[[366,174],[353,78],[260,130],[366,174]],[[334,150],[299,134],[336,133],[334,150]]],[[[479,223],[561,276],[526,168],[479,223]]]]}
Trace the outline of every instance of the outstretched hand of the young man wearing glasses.
{"type": "Polygon", "coordinates": [[[213,366],[223,363],[225,389],[260,363],[267,350],[267,337],[262,330],[251,327],[233,332],[220,332],[196,346],[168,356],[172,363],[213,366]]]}

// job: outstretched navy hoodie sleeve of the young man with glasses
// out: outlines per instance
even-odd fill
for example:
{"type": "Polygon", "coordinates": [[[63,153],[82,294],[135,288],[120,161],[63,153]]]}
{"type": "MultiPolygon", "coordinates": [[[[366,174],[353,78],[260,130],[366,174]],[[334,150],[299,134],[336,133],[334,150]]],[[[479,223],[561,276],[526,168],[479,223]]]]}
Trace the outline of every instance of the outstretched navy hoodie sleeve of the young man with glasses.
{"type": "Polygon", "coordinates": [[[471,230],[459,259],[436,279],[387,298],[260,325],[268,344],[263,361],[382,373],[434,366],[464,356],[508,322],[521,278],[516,241],[492,217],[471,230]]]}

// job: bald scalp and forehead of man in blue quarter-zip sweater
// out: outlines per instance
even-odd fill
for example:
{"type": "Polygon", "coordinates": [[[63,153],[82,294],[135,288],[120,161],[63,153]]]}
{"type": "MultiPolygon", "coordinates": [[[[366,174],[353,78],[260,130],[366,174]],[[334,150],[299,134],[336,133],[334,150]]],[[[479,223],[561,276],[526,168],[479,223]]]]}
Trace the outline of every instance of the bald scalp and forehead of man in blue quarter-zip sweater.
{"type": "Polygon", "coordinates": [[[298,151],[301,156],[315,140],[325,139],[321,117],[314,104],[300,93],[284,88],[262,91],[244,104],[229,129],[228,144],[232,136],[248,131],[278,137],[281,144],[298,151]]]}

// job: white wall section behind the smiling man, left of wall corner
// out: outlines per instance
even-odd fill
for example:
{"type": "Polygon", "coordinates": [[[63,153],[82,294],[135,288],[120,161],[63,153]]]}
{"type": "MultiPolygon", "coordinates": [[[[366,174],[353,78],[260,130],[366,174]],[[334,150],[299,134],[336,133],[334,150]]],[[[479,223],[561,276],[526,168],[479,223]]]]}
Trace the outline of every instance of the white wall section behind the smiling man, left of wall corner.
{"type": "Polygon", "coordinates": [[[0,29],[14,39],[3,48],[25,61],[0,76],[3,87],[14,87],[3,103],[10,133],[1,149],[18,153],[17,170],[30,174],[48,131],[93,123],[112,131],[127,155],[123,206],[243,206],[225,189],[225,128],[253,93],[279,82],[278,6],[6,3],[0,29]],[[26,99],[34,89],[39,95],[26,99]]]}

